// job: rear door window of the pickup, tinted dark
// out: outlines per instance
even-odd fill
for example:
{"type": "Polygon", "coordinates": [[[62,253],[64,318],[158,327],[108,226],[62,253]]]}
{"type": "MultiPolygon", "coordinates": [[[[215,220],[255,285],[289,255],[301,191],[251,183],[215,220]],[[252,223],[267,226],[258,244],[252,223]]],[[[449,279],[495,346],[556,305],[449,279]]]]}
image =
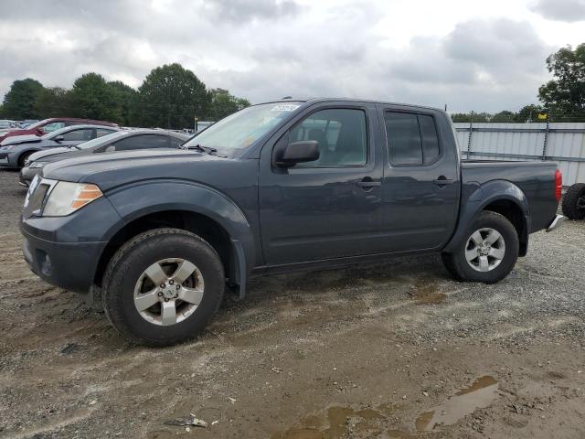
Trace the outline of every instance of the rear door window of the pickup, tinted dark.
{"type": "Polygon", "coordinates": [[[393,165],[430,165],[441,150],[432,116],[410,112],[385,112],[390,162],[393,165]]]}

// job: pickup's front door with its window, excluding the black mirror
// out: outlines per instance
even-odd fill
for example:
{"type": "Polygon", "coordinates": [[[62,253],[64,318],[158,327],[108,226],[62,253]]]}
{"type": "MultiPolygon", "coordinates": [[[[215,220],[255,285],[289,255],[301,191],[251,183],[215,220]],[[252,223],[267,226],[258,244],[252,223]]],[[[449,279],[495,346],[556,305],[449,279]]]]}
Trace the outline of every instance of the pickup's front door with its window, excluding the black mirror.
{"type": "Polygon", "coordinates": [[[268,265],[367,254],[379,230],[375,107],[308,112],[262,148],[259,202],[268,265]],[[319,143],[318,160],[288,169],[272,164],[274,145],[300,140],[319,143]]]}

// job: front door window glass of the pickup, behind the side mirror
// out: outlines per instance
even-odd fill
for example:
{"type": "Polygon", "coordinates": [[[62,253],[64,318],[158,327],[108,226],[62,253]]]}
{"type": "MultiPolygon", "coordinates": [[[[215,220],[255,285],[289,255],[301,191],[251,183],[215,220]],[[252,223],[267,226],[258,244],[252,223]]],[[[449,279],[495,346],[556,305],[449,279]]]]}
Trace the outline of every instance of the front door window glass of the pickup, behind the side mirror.
{"type": "Polygon", "coordinates": [[[307,116],[293,127],[289,142],[316,140],[319,159],[295,167],[366,165],[366,126],[363,110],[333,108],[307,116]]]}

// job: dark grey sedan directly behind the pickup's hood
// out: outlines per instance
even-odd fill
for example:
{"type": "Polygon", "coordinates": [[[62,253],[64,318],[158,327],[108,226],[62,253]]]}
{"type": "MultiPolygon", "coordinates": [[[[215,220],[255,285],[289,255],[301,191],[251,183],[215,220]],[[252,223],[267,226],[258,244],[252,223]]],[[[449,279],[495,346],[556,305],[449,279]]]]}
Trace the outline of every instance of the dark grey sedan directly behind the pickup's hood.
{"type": "Polygon", "coordinates": [[[41,169],[49,163],[55,163],[81,155],[90,155],[98,153],[109,153],[113,151],[129,151],[135,149],[152,149],[152,148],[179,148],[188,139],[189,135],[176,133],[174,131],[162,130],[132,130],[118,131],[112,134],[104,135],[90,140],[75,148],[60,147],[50,148],[44,151],[38,151],[29,155],[25,160],[25,166],[20,170],[20,184],[29,186],[41,169]]]}

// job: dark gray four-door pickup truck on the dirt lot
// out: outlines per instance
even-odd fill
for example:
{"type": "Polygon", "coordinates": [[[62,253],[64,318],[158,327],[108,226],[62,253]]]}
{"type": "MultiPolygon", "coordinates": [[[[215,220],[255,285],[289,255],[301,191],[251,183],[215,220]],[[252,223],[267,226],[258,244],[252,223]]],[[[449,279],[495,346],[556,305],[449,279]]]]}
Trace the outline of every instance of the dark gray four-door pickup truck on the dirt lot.
{"type": "Polygon", "coordinates": [[[33,272],[101,291],[112,325],[152,346],[193,337],[257,273],[441,252],[456,279],[495,283],[563,219],[556,164],[462,162],[431,108],[262,103],[186,146],[49,164],[22,216],[33,272]]]}

